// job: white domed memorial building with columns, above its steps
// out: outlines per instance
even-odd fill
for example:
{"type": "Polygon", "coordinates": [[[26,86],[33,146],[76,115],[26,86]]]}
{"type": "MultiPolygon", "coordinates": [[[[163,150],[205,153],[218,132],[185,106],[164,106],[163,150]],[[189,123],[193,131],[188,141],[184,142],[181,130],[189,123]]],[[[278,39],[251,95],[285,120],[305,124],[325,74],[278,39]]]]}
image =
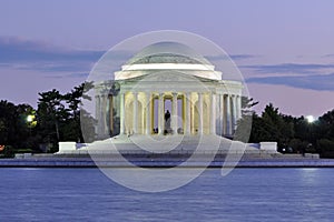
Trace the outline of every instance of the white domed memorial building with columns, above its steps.
{"type": "Polygon", "coordinates": [[[95,83],[96,133],[114,135],[203,135],[233,138],[242,117],[239,81],[224,79],[205,57],[176,42],[139,51],[95,83]]]}

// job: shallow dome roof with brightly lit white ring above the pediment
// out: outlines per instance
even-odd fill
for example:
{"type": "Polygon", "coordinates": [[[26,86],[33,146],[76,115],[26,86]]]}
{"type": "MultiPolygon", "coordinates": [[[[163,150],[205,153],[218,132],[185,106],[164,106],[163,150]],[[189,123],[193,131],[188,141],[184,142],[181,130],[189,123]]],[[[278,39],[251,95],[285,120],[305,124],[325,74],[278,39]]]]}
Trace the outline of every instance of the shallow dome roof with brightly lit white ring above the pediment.
{"type": "Polygon", "coordinates": [[[205,79],[222,80],[222,72],[202,54],[178,42],[158,42],[140,50],[115,72],[115,79],[130,79],[157,71],[175,70],[205,79]]]}

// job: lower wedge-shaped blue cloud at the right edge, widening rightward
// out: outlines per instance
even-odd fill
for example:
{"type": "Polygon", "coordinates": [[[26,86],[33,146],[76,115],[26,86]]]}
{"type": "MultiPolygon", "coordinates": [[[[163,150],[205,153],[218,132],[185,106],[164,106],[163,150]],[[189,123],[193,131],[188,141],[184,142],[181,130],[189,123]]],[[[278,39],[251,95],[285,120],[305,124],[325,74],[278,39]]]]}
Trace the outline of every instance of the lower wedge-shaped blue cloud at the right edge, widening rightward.
{"type": "Polygon", "coordinates": [[[334,73],[311,74],[303,77],[264,77],[248,78],[247,83],[281,84],[301,89],[312,89],[317,91],[334,91],[334,73]]]}

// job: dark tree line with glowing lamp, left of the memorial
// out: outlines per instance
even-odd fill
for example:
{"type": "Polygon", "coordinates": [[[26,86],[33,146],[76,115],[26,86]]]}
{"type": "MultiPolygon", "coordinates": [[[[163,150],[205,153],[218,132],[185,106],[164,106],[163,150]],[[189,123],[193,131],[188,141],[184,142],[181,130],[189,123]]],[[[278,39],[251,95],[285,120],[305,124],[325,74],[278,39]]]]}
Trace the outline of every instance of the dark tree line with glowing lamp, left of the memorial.
{"type": "MultiPolygon", "coordinates": [[[[91,83],[82,83],[61,94],[53,89],[39,93],[38,108],[0,101],[0,145],[4,155],[14,152],[56,152],[59,141],[84,142],[80,102],[91,83]]],[[[89,99],[89,98],[86,98],[89,99]]],[[[92,118],[89,113],[84,113],[92,118]]]]}

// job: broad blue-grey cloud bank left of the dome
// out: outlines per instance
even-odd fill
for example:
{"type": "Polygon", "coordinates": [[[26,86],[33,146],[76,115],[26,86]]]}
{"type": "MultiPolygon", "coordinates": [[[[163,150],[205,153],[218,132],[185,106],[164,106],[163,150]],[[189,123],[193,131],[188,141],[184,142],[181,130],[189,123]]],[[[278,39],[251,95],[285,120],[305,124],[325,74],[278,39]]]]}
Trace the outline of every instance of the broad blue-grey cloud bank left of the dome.
{"type": "MultiPolygon", "coordinates": [[[[106,51],[73,50],[43,41],[0,37],[0,67],[42,72],[89,72],[106,51]]],[[[114,59],[125,59],[129,52],[114,51],[114,59]]]]}

